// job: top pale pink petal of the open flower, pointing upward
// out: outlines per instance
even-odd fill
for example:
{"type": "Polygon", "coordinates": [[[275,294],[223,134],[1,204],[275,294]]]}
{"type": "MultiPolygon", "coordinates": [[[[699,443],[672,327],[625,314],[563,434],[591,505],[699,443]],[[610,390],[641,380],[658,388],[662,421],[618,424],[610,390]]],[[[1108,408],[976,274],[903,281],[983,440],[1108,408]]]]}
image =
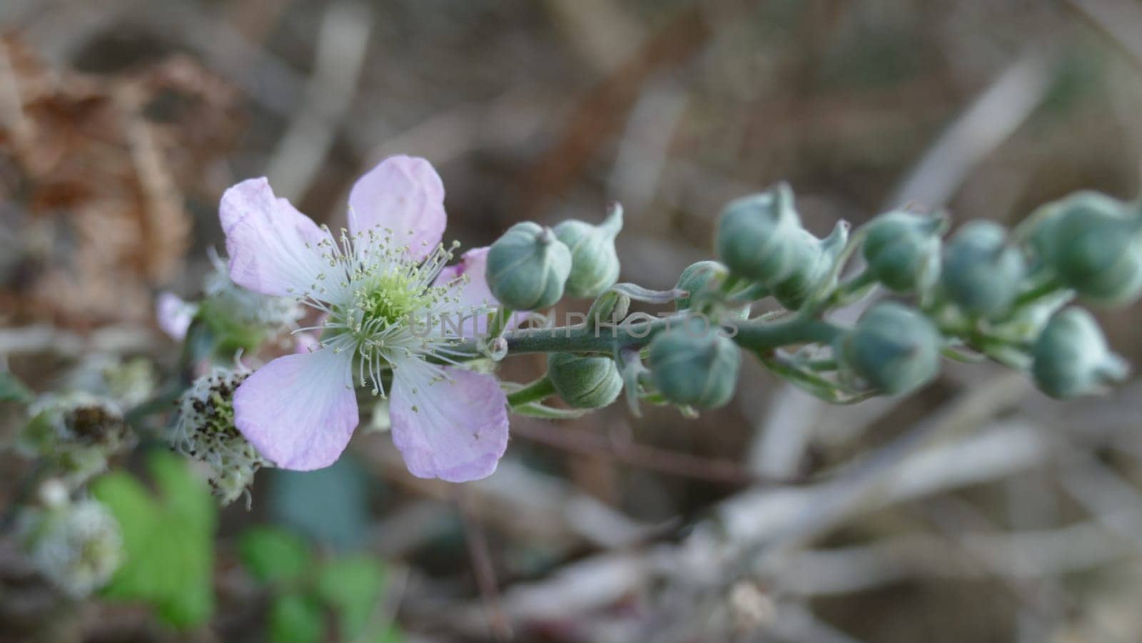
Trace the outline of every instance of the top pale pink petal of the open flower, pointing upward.
{"type": "Polygon", "coordinates": [[[444,236],[444,183],[432,163],[389,156],[353,184],[349,232],[389,230],[393,239],[423,259],[444,236]]]}

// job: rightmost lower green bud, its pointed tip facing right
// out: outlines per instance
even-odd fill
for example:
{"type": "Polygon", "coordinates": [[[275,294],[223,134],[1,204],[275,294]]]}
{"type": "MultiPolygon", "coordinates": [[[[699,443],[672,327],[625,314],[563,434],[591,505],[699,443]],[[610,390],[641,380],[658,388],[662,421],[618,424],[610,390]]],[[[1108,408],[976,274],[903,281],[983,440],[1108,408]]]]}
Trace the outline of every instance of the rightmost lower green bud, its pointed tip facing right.
{"type": "Polygon", "coordinates": [[[1097,322],[1083,308],[1055,313],[1031,353],[1035,384],[1052,397],[1100,393],[1129,375],[1129,365],[1110,352],[1097,322]]]}

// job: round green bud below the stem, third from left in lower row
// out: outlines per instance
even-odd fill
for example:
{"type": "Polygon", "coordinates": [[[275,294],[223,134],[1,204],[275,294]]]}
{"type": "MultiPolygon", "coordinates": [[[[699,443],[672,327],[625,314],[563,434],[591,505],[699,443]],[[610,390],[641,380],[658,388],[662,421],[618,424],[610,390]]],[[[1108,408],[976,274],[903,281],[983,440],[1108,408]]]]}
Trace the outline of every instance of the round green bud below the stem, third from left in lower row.
{"type": "Polygon", "coordinates": [[[837,337],[833,349],[844,372],[890,395],[909,393],[940,372],[941,337],[920,313],[884,302],[837,337]]]}

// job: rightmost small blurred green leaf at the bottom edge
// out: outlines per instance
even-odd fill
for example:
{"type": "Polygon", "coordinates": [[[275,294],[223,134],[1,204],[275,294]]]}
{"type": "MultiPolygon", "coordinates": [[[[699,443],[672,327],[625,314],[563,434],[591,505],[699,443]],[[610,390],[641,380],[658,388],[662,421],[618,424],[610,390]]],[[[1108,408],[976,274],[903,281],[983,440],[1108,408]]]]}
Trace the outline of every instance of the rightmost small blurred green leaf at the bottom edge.
{"type": "Polygon", "coordinates": [[[361,636],[385,590],[385,566],[365,554],[335,558],[317,573],[317,595],[337,613],[341,636],[361,636]]]}

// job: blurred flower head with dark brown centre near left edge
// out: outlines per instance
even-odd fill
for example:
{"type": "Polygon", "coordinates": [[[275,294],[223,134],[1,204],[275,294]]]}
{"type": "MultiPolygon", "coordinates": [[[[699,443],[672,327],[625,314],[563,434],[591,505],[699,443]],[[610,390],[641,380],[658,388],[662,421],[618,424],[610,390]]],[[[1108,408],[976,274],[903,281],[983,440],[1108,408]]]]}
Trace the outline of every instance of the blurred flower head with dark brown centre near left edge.
{"type": "Polygon", "coordinates": [[[135,443],[122,407],[110,397],[82,392],[47,394],[29,412],[32,419],[17,439],[17,450],[50,463],[72,488],[107,471],[107,461],[135,443]]]}

